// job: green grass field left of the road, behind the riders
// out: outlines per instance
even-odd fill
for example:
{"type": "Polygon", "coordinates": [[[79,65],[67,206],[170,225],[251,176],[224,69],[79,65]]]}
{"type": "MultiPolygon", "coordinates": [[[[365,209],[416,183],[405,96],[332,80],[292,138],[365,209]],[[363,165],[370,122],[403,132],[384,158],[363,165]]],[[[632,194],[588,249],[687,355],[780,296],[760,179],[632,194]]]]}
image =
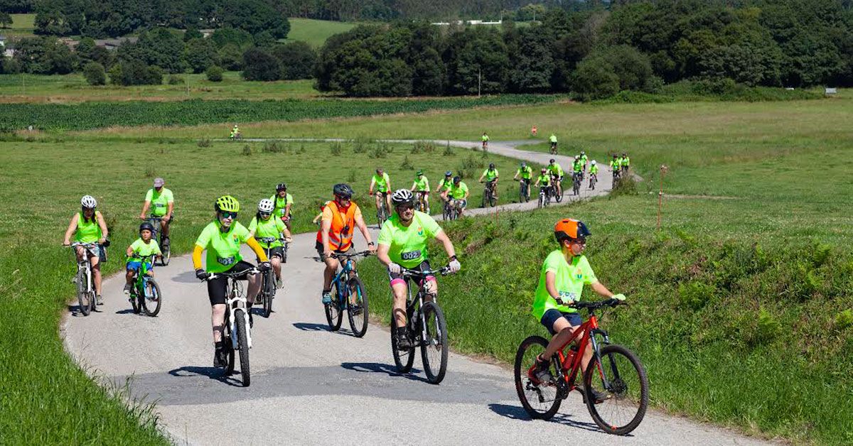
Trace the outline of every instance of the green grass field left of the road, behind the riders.
{"type": "MultiPolygon", "coordinates": [[[[377,165],[389,172],[392,185],[405,187],[416,168],[437,182],[446,169],[479,175],[477,170],[490,161],[507,170],[515,165],[512,159],[484,159],[460,148],[445,154],[443,147],[426,145],[414,150],[412,145],[360,142],[340,145],[335,154],[336,144],[280,144],[276,149],[258,143],[249,144],[252,154],[245,155],[246,145],[0,142],[0,200],[9,203],[0,214],[0,325],[15,333],[0,341],[0,443],[165,443],[144,407],[125,408],[114,392],[93,384],[57,337],[65,303],[73,295],[73,257],[60,246],[61,237],[82,194],[96,196],[112,227],[105,272],[114,273],[123,267],[120,252],[136,238],[136,216],[155,176],[165,177],[175,192],[173,246],[187,252],[220,194],[241,200],[240,220],[248,224],[258,200],[269,197],[276,182],[287,182],[296,200],[294,229],[306,232],[316,230],[310,220],[335,182],[351,182],[365,218],[375,221],[366,192],[377,165]]],[[[478,189],[472,188],[475,197],[478,189]]]]}

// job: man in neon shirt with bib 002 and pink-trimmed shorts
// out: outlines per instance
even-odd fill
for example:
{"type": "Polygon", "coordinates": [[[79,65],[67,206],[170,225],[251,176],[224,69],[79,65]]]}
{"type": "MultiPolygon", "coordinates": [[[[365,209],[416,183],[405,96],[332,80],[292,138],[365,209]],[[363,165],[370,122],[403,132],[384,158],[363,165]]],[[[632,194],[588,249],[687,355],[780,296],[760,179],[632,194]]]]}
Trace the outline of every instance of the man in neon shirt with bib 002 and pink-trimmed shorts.
{"type": "MultiPolygon", "coordinates": [[[[406,350],[411,348],[412,342],[406,335],[406,298],[409,285],[401,274],[403,268],[421,271],[432,269],[427,253],[427,241],[431,238],[444,245],[444,252],[447,252],[450,258],[451,273],[458,271],[461,265],[456,259],[453,243],[438,223],[429,215],[415,211],[415,197],[411,191],[398,189],[391,200],[396,212],[382,224],[377,257],[388,268],[388,278],[391,280],[394,294],[392,314],[397,320],[397,333],[394,333],[397,336],[397,348],[406,350]]],[[[438,295],[438,282],[434,276],[428,275],[425,283],[418,285],[427,287],[427,292],[433,298],[438,295]]]]}

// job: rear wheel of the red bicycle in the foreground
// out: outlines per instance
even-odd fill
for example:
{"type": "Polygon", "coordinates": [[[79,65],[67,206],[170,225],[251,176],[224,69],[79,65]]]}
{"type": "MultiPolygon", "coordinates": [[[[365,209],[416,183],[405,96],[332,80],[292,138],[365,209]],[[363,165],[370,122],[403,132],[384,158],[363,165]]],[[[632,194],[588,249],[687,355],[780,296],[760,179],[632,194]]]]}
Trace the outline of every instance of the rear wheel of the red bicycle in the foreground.
{"type": "MultiPolygon", "coordinates": [[[[531,369],[536,364],[536,357],[545,351],[548,341],[542,336],[531,336],[519,345],[515,353],[515,391],[519,394],[521,405],[534,420],[549,420],[560,409],[560,391],[554,382],[537,382],[531,378],[531,369]]],[[[549,368],[556,375],[554,363],[549,368]]]]}

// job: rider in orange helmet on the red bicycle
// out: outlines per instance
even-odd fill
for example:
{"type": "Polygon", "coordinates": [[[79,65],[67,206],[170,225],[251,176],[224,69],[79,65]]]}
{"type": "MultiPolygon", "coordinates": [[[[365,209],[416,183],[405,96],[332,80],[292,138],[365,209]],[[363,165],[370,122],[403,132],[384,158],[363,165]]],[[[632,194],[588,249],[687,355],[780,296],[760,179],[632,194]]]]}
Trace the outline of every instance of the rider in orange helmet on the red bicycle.
{"type": "MultiPolygon", "coordinates": [[[[567,342],[572,340],[574,332],[581,326],[582,320],[572,302],[580,300],[583,286],[605,298],[624,300],[624,294],[613,294],[595,277],[589,261],[582,254],[589,237],[589,229],[579,220],[564,218],[554,225],[554,237],[560,249],[554,250],[542,265],[539,273],[539,285],[533,298],[533,316],[542,323],[553,336],[548,347],[537,356],[537,379],[545,382],[553,379],[548,371],[551,356],[567,342]],[[560,298],[565,304],[560,304],[560,298]]],[[[575,339],[576,342],[580,339],[575,339]]],[[[591,345],[583,351],[581,368],[586,370],[592,358],[591,345]]],[[[595,393],[597,402],[606,398],[604,393],[595,393]]]]}

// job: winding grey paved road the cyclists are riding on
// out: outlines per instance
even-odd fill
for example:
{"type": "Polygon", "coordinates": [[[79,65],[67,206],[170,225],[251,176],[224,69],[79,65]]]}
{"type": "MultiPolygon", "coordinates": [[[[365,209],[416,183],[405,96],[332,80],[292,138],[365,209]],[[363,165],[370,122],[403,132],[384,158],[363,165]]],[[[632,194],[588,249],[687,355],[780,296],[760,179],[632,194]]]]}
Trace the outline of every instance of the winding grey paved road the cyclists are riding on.
{"type": "MultiPolygon", "coordinates": [[[[547,162],[547,154],[513,145],[490,148],[547,162]]],[[[597,193],[610,188],[601,177],[597,193]]],[[[157,402],[160,423],[178,444],[759,443],[654,411],[631,437],[613,437],[597,429],[577,392],[553,420],[529,420],[508,368],[456,354],[441,385],[424,380],[420,356],[413,374],[396,374],[386,327],[371,325],[363,339],[328,332],[315,257],[314,235],[297,235],[277,311],[255,319],[251,387],[211,367],[210,304],[187,256],[156,269],[165,295],[156,318],[131,312],[119,275],[104,281],[101,312],[76,316],[72,307],[61,327],[67,350],[101,379],[130,377],[134,397],[157,402]]]]}

